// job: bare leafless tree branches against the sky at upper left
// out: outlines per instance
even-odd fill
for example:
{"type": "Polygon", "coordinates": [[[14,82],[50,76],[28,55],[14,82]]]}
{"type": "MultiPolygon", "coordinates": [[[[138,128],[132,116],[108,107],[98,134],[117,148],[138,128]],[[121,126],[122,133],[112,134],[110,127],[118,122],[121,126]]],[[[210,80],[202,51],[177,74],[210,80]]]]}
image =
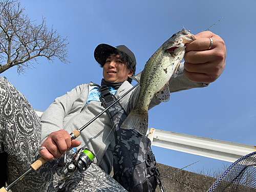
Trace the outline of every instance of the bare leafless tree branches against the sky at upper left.
{"type": "Polygon", "coordinates": [[[58,58],[67,63],[67,38],[53,27],[48,30],[46,19],[40,25],[30,20],[17,0],[0,1],[0,73],[17,66],[17,73],[33,67],[40,56],[49,61],[58,58]]]}

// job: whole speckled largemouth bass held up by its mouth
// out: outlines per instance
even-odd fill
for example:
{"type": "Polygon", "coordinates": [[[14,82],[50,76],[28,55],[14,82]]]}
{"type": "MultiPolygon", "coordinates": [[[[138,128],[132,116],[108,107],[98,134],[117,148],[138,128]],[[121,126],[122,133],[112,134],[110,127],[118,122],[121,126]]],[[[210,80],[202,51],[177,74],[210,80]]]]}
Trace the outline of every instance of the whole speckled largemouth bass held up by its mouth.
{"type": "MultiPolygon", "coordinates": [[[[148,105],[156,95],[167,102],[170,99],[168,81],[178,72],[185,54],[185,44],[195,40],[189,31],[175,33],[151,56],[144,70],[131,77],[140,84],[140,92],[134,109],[121,125],[121,129],[135,129],[142,135],[147,132],[148,105]]],[[[176,75],[177,76],[177,75],[176,75]]]]}

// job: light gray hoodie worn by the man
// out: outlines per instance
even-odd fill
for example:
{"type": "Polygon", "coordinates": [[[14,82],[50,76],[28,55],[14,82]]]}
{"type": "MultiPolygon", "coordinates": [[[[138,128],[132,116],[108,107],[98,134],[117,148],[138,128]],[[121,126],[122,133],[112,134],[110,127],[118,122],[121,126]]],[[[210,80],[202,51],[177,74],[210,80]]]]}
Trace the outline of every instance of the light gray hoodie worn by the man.
{"type": "MultiPolygon", "coordinates": [[[[104,110],[101,102],[90,101],[86,104],[89,91],[95,86],[99,87],[98,84],[93,82],[81,84],[67,92],[67,94],[55,99],[41,116],[41,142],[44,142],[52,132],[63,129],[71,133],[76,129],[80,129],[80,127],[104,110]]],[[[208,84],[188,80],[183,75],[183,63],[181,63],[178,76],[176,78],[172,77],[169,81],[170,93],[206,86],[208,84]]],[[[116,98],[119,98],[131,88],[132,85],[125,81],[115,93],[116,98]]],[[[127,114],[135,106],[138,94],[139,89],[136,88],[120,100],[127,114]]],[[[160,101],[154,97],[149,109],[159,103],[160,101]]],[[[115,139],[108,114],[102,114],[86,127],[77,140],[81,141],[80,147],[84,146],[93,150],[98,159],[97,164],[109,174],[112,170],[115,139]]]]}

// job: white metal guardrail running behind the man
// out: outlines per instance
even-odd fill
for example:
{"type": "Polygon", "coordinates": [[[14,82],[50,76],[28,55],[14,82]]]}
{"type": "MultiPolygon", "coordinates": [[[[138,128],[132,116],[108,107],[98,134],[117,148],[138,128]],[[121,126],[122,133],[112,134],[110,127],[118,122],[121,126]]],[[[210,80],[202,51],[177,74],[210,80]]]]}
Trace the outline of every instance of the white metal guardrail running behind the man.
{"type": "MultiPolygon", "coordinates": [[[[39,117],[43,113],[43,111],[35,111],[39,117]]],[[[256,147],[252,145],[161,131],[154,128],[148,129],[147,137],[151,139],[154,146],[228,162],[234,162],[256,151],[256,147]]]]}

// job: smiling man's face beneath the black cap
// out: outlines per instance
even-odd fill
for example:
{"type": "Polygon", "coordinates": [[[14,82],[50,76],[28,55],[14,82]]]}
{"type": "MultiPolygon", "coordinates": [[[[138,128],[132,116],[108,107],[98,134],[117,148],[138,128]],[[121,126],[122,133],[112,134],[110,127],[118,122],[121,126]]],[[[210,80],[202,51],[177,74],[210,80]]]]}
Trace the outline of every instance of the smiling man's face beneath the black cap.
{"type": "Polygon", "coordinates": [[[103,77],[109,82],[123,82],[133,75],[133,71],[128,69],[119,55],[110,55],[106,58],[103,66],[103,77]]]}

